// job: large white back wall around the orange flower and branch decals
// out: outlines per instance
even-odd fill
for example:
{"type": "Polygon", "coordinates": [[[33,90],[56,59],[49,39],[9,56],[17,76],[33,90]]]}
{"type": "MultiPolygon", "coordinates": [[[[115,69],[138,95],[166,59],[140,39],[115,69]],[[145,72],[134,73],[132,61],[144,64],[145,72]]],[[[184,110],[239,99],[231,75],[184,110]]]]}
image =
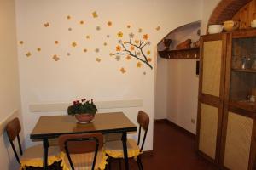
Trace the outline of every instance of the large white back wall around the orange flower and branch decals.
{"type": "Polygon", "coordinates": [[[123,31],[125,38],[130,32],[140,38],[148,33],[151,42],[148,50],[151,51],[152,65],[156,65],[157,42],[177,26],[199,20],[200,2],[16,0],[18,41],[24,42],[19,45],[19,64],[26,144],[31,144],[29,134],[39,116],[65,114],[35,114],[28,109],[32,103],[68,102],[80,97],[98,101],[143,99],[143,107],[108,111],[124,111],[133,122],[136,122],[139,109],[147,111],[151,122],[145,149],[152,150],[156,68],[150,70],[146,65],[137,68],[136,60],[116,61],[109,53],[117,45],[118,31],[123,31]],[[93,11],[97,12],[98,18],[92,18],[93,11]],[[67,15],[73,20],[67,20],[67,15]],[[85,25],[79,26],[79,20],[84,20],[85,25]],[[112,27],[107,26],[108,20],[113,22],[112,27]],[[45,22],[49,22],[48,28],[44,27],[45,22]],[[131,28],[126,28],[126,25],[131,25],[131,28]],[[101,26],[101,31],[96,31],[96,26],[101,26]],[[156,31],[157,26],[161,27],[160,31],[156,31]],[[67,31],[68,27],[73,31],[67,31]],[[137,32],[138,28],[143,28],[142,34],[137,32]],[[87,34],[90,40],[84,38],[87,34]],[[55,40],[60,44],[55,45],[55,40]],[[70,46],[73,41],[78,42],[76,48],[70,46]],[[108,42],[106,47],[102,45],[105,41],[108,42]],[[36,49],[38,47],[42,48],[40,52],[36,49]],[[86,54],[83,48],[88,49],[86,54]],[[95,48],[100,48],[100,53],[96,54],[95,48]],[[28,52],[32,55],[26,57],[28,52]],[[60,56],[59,61],[52,59],[54,54],[60,56]],[[101,62],[96,62],[96,58],[102,59],[101,62]],[[121,67],[125,68],[125,74],[120,73],[121,67]]]}

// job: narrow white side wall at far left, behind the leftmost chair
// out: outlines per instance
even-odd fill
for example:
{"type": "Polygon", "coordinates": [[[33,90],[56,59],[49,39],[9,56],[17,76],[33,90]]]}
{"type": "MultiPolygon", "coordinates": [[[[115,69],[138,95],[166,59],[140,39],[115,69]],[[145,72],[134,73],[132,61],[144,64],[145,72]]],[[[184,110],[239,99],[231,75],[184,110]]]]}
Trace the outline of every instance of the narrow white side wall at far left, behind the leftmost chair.
{"type": "Polygon", "coordinates": [[[0,169],[15,170],[18,164],[6,133],[3,133],[9,119],[19,116],[20,112],[14,0],[0,0],[0,37],[0,169]]]}

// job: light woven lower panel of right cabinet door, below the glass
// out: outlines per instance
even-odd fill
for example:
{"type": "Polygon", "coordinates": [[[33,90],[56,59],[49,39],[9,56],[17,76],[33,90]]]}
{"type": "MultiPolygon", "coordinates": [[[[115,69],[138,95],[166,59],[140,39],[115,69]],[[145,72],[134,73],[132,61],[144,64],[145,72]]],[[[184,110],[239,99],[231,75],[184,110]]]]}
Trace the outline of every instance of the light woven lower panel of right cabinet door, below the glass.
{"type": "Polygon", "coordinates": [[[224,167],[247,170],[253,132],[253,119],[233,112],[228,113],[224,149],[224,167]]]}

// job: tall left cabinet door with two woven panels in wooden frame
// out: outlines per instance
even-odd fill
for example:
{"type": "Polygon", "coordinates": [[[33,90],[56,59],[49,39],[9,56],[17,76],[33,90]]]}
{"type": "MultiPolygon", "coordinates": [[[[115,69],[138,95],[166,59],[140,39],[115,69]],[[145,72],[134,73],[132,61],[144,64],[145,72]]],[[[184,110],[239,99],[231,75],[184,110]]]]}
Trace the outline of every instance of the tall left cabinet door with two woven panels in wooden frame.
{"type": "Polygon", "coordinates": [[[226,34],[201,37],[197,142],[201,156],[218,163],[224,101],[226,34]]]}

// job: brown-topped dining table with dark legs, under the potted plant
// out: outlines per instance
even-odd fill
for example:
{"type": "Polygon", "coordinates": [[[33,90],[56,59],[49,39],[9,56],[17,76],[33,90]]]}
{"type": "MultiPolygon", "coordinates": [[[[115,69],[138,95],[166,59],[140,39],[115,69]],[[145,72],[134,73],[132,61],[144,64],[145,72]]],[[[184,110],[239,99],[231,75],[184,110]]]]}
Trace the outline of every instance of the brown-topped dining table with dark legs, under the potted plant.
{"type": "Polygon", "coordinates": [[[73,133],[122,133],[125,169],[129,169],[127,155],[127,133],[136,132],[137,126],[123,112],[98,113],[92,122],[79,123],[74,116],[40,116],[30,134],[32,140],[43,140],[44,169],[48,162],[48,139],[58,138],[61,134],[73,133]]]}

